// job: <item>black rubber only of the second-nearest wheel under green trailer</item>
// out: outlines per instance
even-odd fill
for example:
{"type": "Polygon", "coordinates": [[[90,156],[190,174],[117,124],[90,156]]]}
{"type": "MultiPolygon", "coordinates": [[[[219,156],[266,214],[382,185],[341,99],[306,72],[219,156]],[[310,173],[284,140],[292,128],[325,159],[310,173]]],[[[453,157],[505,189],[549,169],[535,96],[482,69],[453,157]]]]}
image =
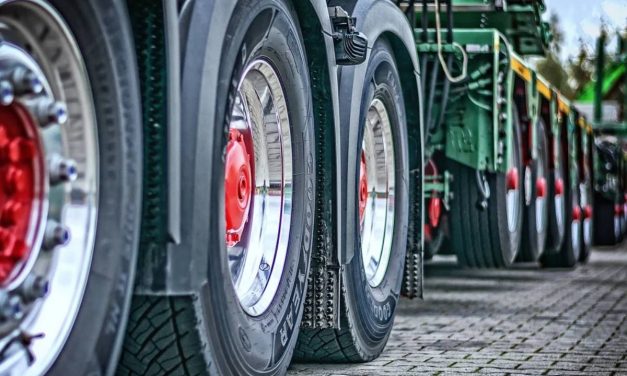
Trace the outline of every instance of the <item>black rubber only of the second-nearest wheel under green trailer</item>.
{"type": "MultiPolygon", "coordinates": [[[[538,261],[540,256],[544,253],[546,246],[546,237],[548,231],[548,190],[545,194],[544,200],[544,217],[545,228],[544,231],[538,232],[537,230],[537,218],[536,211],[536,199],[538,197],[538,191],[536,189],[536,181],[538,179],[539,165],[542,165],[544,170],[545,179],[548,177],[549,172],[549,151],[548,141],[546,137],[546,127],[542,120],[538,120],[536,124],[536,130],[538,132],[538,150],[537,158],[531,163],[531,203],[525,208],[525,215],[523,221],[523,237],[519,254],[520,261],[538,261]]],[[[548,179],[547,179],[548,180],[548,179]]],[[[524,185],[524,184],[523,184],[524,185]]],[[[548,188],[548,187],[547,187],[548,188]]]]}

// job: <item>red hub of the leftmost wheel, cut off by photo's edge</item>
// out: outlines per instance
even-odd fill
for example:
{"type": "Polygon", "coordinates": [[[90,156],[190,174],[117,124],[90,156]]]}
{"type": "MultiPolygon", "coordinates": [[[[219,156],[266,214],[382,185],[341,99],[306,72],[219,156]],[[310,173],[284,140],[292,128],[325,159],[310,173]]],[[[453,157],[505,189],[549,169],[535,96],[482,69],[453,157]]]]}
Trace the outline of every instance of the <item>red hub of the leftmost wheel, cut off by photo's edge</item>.
{"type": "Polygon", "coordinates": [[[31,253],[30,227],[41,203],[42,150],[37,129],[18,104],[0,107],[0,283],[31,253]]]}

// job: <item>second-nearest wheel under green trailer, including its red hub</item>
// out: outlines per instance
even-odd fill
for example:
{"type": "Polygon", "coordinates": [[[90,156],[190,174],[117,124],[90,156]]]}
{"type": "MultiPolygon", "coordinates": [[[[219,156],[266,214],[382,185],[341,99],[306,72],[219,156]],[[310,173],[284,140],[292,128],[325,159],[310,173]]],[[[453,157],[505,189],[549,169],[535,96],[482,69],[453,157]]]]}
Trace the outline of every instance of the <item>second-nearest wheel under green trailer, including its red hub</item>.
{"type": "Polygon", "coordinates": [[[544,253],[548,230],[547,208],[547,178],[549,171],[549,151],[546,137],[546,127],[540,119],[538,130],[538,154],[537,159],[531,162],[531,178],[529,184],[525,184],[525,195],[529,197],[524,220],[522,246],[519,259],[521,261],[538,261],[544,253]],[[530,189],[530,192],[527,190],[530,189]]]}

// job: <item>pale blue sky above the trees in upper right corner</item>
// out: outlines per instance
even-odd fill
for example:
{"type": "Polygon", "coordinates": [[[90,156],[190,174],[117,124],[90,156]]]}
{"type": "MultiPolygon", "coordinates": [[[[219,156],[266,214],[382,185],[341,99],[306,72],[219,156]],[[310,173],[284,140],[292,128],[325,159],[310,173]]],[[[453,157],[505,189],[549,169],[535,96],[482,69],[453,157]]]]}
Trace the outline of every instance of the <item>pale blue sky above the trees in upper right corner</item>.
{"type": "MultiPolygon", "coordinates": [[[[576,56],[581,38],[591,48],[599,35],[601,20],[608,25],[608,30],[624,29],[627,25],[627,0],[545,0],[548,20],[551,13],[558,15],[560,27],[564,32],[562,60],[576,56]]],[[[616,50],[615,38],[610,38],[608,51],[616,50]]],[[[594,53],[594,51],[590,51],[594,53]]]]}

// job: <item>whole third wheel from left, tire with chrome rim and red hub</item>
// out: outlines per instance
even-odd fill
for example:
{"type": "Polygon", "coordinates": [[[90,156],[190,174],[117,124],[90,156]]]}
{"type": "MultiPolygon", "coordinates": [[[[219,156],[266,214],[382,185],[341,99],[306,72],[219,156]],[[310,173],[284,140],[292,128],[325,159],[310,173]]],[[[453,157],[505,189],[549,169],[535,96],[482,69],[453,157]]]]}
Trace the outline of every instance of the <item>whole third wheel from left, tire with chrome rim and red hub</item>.
{"type": "Polygon", "coordinates": [[[361,233],[354,234],[358,247],[342,273],[340,329],[302,329],[295,352],[300,360],[370,361],[383,351],[392,330],[409,220],[407,129],[396,66],[390,45],[378,40],[356,100],[361,129],[354,152],[365,157],[366,166],[357,158],[347,177],[359,182],[362,210],[355,228],[361,233]]]}

